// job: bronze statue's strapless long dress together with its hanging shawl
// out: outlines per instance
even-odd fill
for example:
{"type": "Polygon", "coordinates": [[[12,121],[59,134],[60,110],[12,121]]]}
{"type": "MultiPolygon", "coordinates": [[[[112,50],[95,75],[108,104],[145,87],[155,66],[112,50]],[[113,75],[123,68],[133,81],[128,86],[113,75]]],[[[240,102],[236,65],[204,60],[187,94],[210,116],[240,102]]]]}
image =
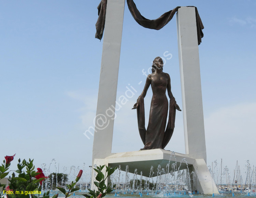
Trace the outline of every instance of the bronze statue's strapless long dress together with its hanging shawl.
{"type": "Polygon", "coordinates": [[[145,129],[144,98],[139,96],[139,106],[137,108],[138,128],[141,140],[145,145],[142,150],[155,148],[163,149],[172,137],[175,123],[176,101],[174,97],[170,99],[169,119],[166,127],[168,114],[168,100],[166,97],[167,83],[167,80],[151,81],[153,97],[151,100],[147,130],[145,129]]]}

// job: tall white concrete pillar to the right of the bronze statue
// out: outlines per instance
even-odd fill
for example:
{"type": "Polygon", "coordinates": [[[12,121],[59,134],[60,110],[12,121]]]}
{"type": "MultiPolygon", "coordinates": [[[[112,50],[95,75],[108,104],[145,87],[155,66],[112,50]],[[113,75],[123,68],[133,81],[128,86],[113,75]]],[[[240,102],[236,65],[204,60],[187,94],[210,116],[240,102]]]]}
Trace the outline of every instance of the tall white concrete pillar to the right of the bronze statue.
{"type": "Polygon", "coordinates": [[[195,7],[176,14],[186,154],[204,159],[206,147],[195,7]]]}

